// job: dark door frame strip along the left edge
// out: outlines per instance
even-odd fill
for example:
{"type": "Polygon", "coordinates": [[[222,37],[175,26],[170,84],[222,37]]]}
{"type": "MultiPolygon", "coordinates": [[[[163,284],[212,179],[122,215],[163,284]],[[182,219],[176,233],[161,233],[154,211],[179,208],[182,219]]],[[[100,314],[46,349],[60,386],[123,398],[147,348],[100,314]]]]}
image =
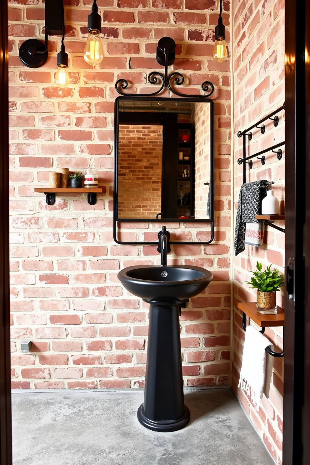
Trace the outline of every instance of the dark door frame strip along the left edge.
{"type": "Polygon", "coordinates": [[[0,16],[0,462],[11,465],[7,0],[0,2],[0,16]]]}

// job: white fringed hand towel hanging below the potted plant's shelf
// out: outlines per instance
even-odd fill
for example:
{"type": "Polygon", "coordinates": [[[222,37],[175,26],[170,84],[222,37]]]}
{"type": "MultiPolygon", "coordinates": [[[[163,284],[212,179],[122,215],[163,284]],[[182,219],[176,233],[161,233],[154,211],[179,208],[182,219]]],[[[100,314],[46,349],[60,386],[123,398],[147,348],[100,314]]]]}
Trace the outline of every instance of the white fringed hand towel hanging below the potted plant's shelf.
{"type": "Polygon", "coordinates": [[[263,393],[269,397],[273,359],[265,351],[268,346],[273,350],[273,345],[261,332],[253,326],[246,327],[238,387],[241,386],[248,395],[251,389],[251,400],[257,410],[263,393]]]}

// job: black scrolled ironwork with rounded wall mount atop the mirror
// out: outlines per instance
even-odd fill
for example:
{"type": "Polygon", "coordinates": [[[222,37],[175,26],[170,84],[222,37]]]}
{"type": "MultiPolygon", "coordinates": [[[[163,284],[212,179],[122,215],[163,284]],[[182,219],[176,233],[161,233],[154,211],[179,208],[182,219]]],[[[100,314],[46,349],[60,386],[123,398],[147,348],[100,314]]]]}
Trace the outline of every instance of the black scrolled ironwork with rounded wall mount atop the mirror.
{"type": "MultiPolygon", "coordinates": [[[[175,89],[171,87],[171,79],[173,79],[174,84],[177,86],[180,86],[181,84],[184,83],[184,76],[181,73],[171,73],[168,74],[168,66],[171,66],[174,62],[175,59],[175,41],[171,39],[171,37],[162,37],[157,44],[157,50],[156,50],[156,61],[159,63],[159,65],[164,66],[164,76],[162,73],[159,73],[158,71],[152,71],[148,75],[148,82],[150,84],[157,84],[158,79],[159,79],[159,84],[161,83],[160,88],[153,93],[139,93],[139,96],[141,97],[151,97],[152,95],[157,95],[160,93],[164,87],[168,87],[168,89],[174,93],[175,95],[178,95],[179,97],[193,97],[193,95],[185,94],[185,93],[178,93],[175,89]]],[[[128,82],[125,79],[119,79],[115,83],[115,89],[117,90],[118,93],[121,95],[126,95],[129,97],[137,97],[136,93],[125,93],[122,92],[126,87],[128,86],[128,82]]],[[[204,81],[201,85],[201,88],[204,92],[208,92],[209,89],[211,89],[211,92],[204,94],[204,95],[195,95],[195,98],[198,99],[205,99],[207,97],[210,97],[210,95],[214,91],[214,86],[210,81],[204,81]]]]}

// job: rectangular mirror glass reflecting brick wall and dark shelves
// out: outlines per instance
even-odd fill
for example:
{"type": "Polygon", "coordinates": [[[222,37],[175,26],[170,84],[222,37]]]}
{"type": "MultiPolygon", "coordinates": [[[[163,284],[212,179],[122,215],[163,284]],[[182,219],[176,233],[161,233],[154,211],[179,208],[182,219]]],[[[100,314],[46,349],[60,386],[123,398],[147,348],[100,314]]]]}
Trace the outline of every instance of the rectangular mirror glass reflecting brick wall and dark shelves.
{"type": "Polygon", "coordinates": [[[194,100],[119,99],[118,219],[210,220],[213,102],[194,100]]]}

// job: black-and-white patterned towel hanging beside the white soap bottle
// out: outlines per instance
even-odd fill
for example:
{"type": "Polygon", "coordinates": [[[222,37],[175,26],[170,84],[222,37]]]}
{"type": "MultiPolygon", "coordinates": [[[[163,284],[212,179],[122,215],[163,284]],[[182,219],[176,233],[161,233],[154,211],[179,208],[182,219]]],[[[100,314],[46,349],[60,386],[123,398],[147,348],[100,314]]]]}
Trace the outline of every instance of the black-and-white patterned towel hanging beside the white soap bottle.
{"type": "Polygon", "coordinates": [[[244,244],[258,247],[264,239],[264,221],[255,219],[259,215],[262,199],[266,197],[268,181],[248,182],[241,186],[236,228],[235,228],[235,255],[244,251],[244,244]]]}

